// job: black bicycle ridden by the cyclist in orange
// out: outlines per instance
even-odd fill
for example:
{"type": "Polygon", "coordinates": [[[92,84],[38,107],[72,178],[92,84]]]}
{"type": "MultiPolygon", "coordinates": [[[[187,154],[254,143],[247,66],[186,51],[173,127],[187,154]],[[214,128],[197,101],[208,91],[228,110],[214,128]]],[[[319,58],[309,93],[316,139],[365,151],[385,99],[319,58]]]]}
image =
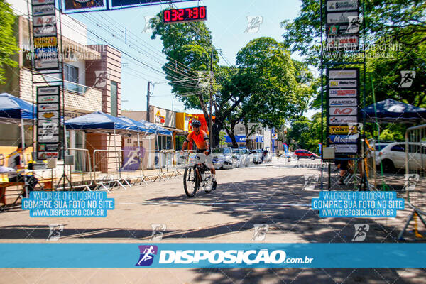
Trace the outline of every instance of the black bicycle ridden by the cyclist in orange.
{"type": "Polygon", "coordinates": [[[188,155],[188,165],[183,173],[183,188],[187,197],[195,197],[200,187],[204,188],[204,192],[216,190],[217,182],[212,181],[212,172],[200,160],[200,155],[192,153],[188,155]]]}

